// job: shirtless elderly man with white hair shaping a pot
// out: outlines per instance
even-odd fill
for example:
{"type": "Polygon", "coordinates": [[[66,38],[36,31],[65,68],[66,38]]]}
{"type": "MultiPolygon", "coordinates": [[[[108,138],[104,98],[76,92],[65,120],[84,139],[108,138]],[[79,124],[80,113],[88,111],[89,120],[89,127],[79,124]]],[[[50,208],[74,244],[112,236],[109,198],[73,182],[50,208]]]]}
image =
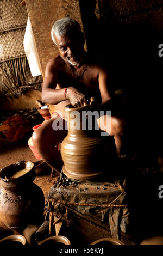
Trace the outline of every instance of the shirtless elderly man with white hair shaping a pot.
{"type": "MultiPolygon", "coordinates": [[[[54,104],[58,112],[70,103],[74,107],[83,106],[93,96],[101,100],[101,107],[98,110],[110,111],[112,96],[109,92],[108,72],[97,59],[84,51],[85,39],[79,23],[70,18],[60,19],[54,23],[51,35],[60,55],[47,63],[42,102],[54,104]]],[[[102,117],[102,121],[101,118],[97,120],[101,130],[104,130],[105,117],[102,117]]],[[[61,157],[55,146],[66,137],[67,130],[53,130],[52,124],[56,118],[54,114],[33,133],[33,143],[49,166],[60,170],[61,157]]],[[[111,115],[110,127],[109,135],[114,136],[117,154],[124,154],[124,121],[111,115]]]]}

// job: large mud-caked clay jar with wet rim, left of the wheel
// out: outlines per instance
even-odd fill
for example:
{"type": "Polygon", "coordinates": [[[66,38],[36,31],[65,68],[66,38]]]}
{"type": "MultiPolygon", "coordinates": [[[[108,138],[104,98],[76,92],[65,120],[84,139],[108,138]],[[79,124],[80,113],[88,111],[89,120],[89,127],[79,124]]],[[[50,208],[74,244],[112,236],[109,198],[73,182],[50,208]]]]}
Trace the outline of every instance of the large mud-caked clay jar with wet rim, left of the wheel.
{"type": "MultiPolygon", "coordinates": [[[[32,214],[35,197],[38,198],[35,205],[38,203],[40,205],[40,202],[44,205],[42,190],[33,184],[34,179],[35,167],[33,162],[19,161],[0,170],[0,220],[8,227],[21,228],[27,224],[30,214],[32,214]],[[11,178],[19,170],[26,168],[27,172],[23,175],[18,176],[18,178],[11,178]]],[[[39,206],[40,214],[42,214],[43,205],[39,206]]]]}

